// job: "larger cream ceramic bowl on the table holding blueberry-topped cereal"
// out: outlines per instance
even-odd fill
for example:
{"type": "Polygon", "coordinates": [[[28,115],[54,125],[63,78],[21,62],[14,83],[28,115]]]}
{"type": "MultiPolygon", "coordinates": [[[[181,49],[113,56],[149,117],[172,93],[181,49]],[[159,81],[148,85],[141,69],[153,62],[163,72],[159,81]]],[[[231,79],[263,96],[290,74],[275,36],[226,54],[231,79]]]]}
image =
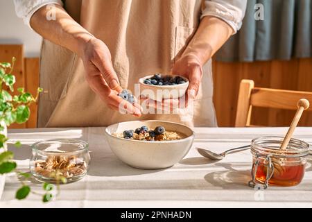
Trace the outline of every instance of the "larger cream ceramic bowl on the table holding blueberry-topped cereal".
{"type": "Polygon", "coordinates": [[[113,153],[121,161],[139,169],[172,167],[187,155],[195,137],[193,130],[187,126],[155,120],[116,123],[105,129],[105,136],[113,153]],[[164,126],[168,131],[183,133],[187,137],[171,141],[140,141],[123,139],[112,135],[113,133],[123,133],[124,130],[135,130],[141,126],[147,126],[148,128],[164,126]]]}

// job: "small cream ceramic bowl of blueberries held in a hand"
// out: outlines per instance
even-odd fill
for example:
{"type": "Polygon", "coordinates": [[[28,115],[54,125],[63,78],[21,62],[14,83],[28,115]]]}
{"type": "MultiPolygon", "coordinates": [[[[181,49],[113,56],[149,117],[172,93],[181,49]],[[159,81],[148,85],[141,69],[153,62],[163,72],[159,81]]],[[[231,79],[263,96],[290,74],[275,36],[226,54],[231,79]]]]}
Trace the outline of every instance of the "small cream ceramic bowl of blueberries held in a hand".
{"type": "MultiPolygon", "coordinates": [[[[148,97],[155,101],[162,101],[162,99],[178,99],[187,92],[189,87],[189,80],[180,76],[185,80],[185,83],[177,85],[148,85],[144,83],[144,80],[147,78],[152,78],[154,75],[145,76],[144,78],[139,79],[140,84],[140,94],[142,96],[148,97]]],[[[177,75],[164,75],[162,76],[171,76],[175,77],[177,75]]]]}

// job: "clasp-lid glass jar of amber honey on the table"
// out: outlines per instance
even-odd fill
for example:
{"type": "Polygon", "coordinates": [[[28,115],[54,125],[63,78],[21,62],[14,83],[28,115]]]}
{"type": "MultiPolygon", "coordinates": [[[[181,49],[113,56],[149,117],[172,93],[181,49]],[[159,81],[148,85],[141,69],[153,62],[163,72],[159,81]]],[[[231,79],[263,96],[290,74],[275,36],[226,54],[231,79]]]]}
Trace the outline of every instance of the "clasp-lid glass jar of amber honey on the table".
{"type": "Polygon", "coordinates": [[[291,139],[287,148],[281,150],[284,137],[259,137],[252,140],[252,180],[250,187],[257,184],[290,187],[300,184],[304,178],[309,144],[291,139]]]}

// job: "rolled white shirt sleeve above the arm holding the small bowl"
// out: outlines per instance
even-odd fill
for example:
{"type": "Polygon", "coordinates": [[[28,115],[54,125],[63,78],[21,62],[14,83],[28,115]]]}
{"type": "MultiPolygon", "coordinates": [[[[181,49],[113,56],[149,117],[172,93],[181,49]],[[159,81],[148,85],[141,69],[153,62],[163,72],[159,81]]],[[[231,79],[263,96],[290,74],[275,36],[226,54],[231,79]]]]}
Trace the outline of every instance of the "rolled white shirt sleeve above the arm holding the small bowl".
{"type": "Polygon", "coordinates": [[[206,0],[201,18],[209,15],[223,19],[236,33],[241,28],[246,6],[247,0],[206,0]]]}

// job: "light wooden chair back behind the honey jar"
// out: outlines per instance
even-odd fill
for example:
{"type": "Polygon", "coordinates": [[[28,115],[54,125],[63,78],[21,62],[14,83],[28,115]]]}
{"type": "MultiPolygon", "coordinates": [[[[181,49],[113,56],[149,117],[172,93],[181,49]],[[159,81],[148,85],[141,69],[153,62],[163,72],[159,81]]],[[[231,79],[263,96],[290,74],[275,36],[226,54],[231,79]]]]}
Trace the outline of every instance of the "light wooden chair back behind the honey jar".
{"type": "MultiPolygon", "coordinates": [[[[312,92],[254,87],[253,80],[241,80],[237,103],[235,127],[250,126],[252,107],[297,110],[297,101],[307,99],[312,103],[312,92]]],[[[312,110],[312,105],[309,111],[312,110]]]]}

